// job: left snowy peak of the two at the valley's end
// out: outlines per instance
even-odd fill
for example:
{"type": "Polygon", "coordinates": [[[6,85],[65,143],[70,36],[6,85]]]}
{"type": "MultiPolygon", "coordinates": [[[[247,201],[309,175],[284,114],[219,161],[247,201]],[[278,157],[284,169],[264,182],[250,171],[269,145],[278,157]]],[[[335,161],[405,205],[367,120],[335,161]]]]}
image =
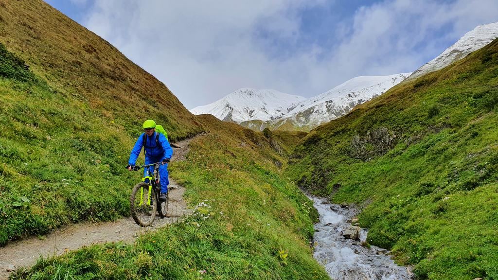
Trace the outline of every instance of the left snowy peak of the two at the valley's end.
{"type": "Polygon", "coordinates": [[[305,100],[276,90],[242,88],[208,105],[191,109],[194,115],[211,114],[222,121],[241,123],[250,120],[269,121],[281,118],[295,104],[305,100]]]}

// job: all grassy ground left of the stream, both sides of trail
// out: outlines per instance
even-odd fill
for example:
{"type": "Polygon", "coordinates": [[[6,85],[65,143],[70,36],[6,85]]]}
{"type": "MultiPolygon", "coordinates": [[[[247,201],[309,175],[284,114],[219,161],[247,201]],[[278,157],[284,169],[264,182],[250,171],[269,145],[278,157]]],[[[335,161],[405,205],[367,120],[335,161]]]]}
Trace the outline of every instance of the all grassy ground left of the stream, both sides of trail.
{"type": "Polygon", "coordinates": [[[263,135],[197,118],[43,1],[0,6],[1,245],[127,216],[139,176],[124,166],[145,119],[163,125],[170,140],[210,132],[170,166],[190,205],[210,207],[135,244],[40,259],[11,279],[328,279],[309,244],[318,214],[281,174],[303,134],[263,135]]]}

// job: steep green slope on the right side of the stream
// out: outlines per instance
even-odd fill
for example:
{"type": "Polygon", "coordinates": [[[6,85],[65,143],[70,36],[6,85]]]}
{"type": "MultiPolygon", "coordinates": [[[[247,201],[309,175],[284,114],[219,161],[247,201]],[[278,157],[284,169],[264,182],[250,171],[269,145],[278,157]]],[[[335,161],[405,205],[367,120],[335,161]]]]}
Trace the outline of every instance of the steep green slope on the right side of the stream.
{"type": "Polygon", "coordinates": [[[498,279],[498,40],[403,83],[312,131],[287,174],[334,202],[371,202],[368,242],[392,249],[419,279],[498,279]],[[354,136],[384,127],[384,155],[354,136]]]}

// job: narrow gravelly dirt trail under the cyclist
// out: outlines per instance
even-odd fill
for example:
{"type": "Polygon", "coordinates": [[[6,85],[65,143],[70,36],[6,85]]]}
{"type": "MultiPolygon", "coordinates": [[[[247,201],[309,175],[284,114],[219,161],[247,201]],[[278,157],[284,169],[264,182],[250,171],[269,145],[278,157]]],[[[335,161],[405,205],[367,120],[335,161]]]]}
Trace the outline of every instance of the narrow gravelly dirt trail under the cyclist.
{"type": "MultiPolygon", "coordinates": [[[[174,148],[172,161],[185,159],[189,150],[188,143],[193,139],[177,143],[180,147],[174,148]]],[[[177,185],[171,179],[169,187],[168,217],[160,219],[156,216],[151,227],[142,228],[135,224],[131,217],[122,218],[116,222],[84,222],[61,227],[45,235],[43,239],[34,236],[7,244],[7,246],[0,248],[0,279],[7,279],[14,268],[34,265],[40,256],[46,258],[62,255],[65,252],[94,243],[132,242],[145,232],[176,222],[180,217],[189,214],[191,210],[183,201],[185,188],[177,185]]]]}

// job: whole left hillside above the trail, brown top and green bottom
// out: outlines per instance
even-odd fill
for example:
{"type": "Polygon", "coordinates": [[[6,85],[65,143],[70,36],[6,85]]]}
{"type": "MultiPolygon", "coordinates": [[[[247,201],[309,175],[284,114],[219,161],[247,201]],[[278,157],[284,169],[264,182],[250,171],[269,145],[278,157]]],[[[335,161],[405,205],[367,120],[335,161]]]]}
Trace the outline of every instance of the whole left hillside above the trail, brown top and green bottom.
{"type": "Polygon", "coordinates": [[[0,244],[129,215],[124,166],[146,117],[173,140],[203,130],[163,84],[42,1],[0,1],[0,53],[0,244]]]}

